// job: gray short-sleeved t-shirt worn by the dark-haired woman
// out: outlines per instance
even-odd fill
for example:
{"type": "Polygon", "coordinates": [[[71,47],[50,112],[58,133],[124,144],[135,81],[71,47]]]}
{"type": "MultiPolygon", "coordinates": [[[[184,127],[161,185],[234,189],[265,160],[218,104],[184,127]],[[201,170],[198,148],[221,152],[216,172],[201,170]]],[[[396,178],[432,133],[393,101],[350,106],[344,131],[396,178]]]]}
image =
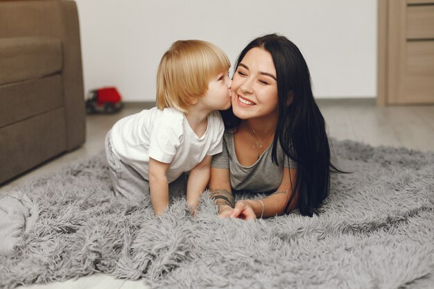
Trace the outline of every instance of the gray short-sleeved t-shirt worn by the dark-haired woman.
{"type": "Polygon", "coordinates": [[[236,159],[234,134],[226,130],[223,134],[223,152],[214,155],[211,166],[214,168],[229,168],[230,181],[233,191],[249,191],[252,193],[272,193],[281,184],[286,168],[297,168],[293,159],[285,157],[278,142],[277,161],[279,166],[273,164],[271,159],[272,143],[252,166],[241,166],[236,159]]]}

